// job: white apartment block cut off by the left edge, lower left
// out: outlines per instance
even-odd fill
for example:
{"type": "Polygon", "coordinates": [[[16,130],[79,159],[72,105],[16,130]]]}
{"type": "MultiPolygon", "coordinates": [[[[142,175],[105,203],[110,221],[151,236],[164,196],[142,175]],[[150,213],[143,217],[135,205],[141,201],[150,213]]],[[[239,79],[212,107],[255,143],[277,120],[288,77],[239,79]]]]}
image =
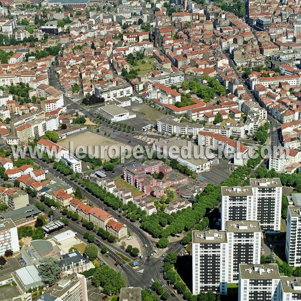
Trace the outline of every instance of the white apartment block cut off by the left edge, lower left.
{"type": "Polygon", "coordinates": [[[6,250],[20,251],[17,227],[10,218],[0,221],[0,256],[6,250]]]}

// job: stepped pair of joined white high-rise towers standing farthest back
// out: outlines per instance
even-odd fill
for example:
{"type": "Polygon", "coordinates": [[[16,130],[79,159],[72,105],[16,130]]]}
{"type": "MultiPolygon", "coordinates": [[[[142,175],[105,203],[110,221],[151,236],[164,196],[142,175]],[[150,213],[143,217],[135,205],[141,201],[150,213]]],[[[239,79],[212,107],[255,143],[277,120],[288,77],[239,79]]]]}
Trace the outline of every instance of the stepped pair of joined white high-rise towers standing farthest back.
{"type": "Polygon", "coordinates": [[[221,227],[226,221],[258,220],[261,231],[279,232],[282,185],[279,178],[250,179],[250,186],[221,188],[221,227]]]}

